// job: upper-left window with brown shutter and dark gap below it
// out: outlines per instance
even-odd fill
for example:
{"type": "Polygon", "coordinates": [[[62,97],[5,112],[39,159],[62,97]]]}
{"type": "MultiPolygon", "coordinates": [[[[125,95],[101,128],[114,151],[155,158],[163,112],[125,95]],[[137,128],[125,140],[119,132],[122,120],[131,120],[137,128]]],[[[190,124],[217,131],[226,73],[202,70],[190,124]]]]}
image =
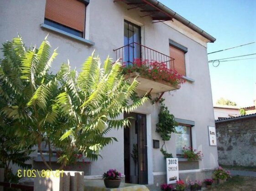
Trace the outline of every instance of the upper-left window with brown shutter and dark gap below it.
{"type": "Polygon", "coordinates": [[[44,23],[84,38],[89,0],[46,0],[44,23]]]}

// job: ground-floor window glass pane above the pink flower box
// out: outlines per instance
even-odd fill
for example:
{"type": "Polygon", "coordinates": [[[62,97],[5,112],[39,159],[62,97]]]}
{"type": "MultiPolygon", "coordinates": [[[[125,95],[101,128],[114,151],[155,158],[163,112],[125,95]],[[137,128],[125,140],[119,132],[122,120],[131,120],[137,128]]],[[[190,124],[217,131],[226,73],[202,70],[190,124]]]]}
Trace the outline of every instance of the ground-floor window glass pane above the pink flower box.
{"type": "Polygon", "coordinates": [[[189,147],[190,144],[190,127],[188,126],[177,126],[176,136],[176,154],[182,154],[183,146],[189,147]]]}

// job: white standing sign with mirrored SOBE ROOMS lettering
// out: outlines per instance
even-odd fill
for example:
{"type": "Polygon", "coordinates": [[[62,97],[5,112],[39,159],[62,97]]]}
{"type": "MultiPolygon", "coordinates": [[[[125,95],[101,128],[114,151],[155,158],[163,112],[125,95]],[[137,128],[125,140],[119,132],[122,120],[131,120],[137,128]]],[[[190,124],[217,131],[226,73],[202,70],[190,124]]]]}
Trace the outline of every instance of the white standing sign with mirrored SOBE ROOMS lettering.
{"type": "Polygon", "coordinates": [[[179,180],[178,158],[167,158],[167,184],[174,184],[179,180]]]}

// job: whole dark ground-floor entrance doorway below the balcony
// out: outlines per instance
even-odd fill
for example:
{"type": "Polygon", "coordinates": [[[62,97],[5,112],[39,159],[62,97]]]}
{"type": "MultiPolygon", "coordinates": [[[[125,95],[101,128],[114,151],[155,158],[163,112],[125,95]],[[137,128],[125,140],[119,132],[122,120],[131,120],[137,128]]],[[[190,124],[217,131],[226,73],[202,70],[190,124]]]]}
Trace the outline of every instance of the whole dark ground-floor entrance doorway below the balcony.
{"type": "Polygon", "coordinates": [[[147,184],[146,115],[125,113],[124,117],[133,117],[124,130],[125,182],[147,184]]]}

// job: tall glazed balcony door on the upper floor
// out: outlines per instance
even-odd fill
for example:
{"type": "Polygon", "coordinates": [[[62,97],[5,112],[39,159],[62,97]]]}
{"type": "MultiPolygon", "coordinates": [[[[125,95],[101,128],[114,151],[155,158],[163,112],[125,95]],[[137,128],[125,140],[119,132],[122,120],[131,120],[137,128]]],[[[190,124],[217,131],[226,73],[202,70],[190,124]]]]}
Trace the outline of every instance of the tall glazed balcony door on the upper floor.
{"type": "Polygon", "coordinates": [[[141,27],[127,20],[124,27],[123,62],[130,65],[134,59],[141,58],[141,27]]]}

